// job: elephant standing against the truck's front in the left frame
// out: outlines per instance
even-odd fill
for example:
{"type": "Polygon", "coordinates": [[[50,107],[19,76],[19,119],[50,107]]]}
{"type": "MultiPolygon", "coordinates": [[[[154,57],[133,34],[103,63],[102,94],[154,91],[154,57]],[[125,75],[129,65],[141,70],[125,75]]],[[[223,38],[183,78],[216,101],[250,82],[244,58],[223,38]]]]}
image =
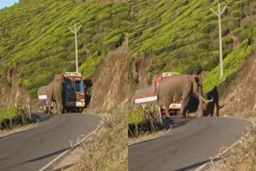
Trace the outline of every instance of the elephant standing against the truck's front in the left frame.
{"type": "Polygon", "coordinates": [[[62,113],[62,91],[64,85],[64,76],[62,74],[56,74],[53,81],[50,82],[44,88],[46,90],[46,96],[48,101],[48,113],[51,114],[51,103],[56,102],[57,113],[62,113]]]}

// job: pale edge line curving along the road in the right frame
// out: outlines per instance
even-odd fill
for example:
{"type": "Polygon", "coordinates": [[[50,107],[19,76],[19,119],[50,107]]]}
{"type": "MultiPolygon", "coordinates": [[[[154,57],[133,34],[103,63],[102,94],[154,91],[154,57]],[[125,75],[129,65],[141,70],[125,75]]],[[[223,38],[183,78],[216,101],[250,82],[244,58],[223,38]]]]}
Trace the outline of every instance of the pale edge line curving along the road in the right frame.
{"type": "MultiPolygon", "coordinates": [[[[253,127],[256,126],[256,123],[252,120],[247,119],[247,118],[242,118],[242,117],[223,117],[223,118],[230,118],[230,119],[241,119],[241,120],[245,120],[245,121],[249,121],[253,127]]],[[[250,135],[250,130],[248,131],[248,133],[246,133],[246,135],[244,137],[248,137],[250,135]]],[[[230,145],[228,148],[226,148],[224,151],[222,151],[222,153],[218,153],[216,154],[215,157],[212,158],[213,161],[217,160],[218,159],[218,156],[222,156],[223,154],[227,153],[230,149],[234,148],[234,146],[238,145],[239,141],[241,141],[241,138],[240,137],[238,139],[238,141],[235,141],[232,145],[230,145]]],[[[206,162],[205,164],[199,166],[197,169],[194,169],[194,171],[202,171],[202,169],[206,169],[206,166],[210,165],[210,161],[206,162]]]]}

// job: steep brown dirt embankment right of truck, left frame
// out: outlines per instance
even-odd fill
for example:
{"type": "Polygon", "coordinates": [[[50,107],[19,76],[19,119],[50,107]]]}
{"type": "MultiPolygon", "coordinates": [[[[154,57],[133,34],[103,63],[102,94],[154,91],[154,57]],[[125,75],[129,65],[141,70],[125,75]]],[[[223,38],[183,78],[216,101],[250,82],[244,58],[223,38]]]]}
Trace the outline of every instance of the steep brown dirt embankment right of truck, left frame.
{"type": "Polygon", "coordinates": [[[89,111],[110,111],[126,107],[128,102],[128,40],[111,51],[91,78],[92,92],[89,111]]]}

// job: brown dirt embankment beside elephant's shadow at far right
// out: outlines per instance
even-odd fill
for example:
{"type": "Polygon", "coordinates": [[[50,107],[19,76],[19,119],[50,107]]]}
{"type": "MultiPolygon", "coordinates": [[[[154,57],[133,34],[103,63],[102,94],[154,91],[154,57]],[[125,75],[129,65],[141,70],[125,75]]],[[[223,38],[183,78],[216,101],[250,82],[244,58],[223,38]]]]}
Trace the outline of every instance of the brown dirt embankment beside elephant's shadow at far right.
{"type": "Polygon", "coordinates": [[[229,87],[222,90],[220,99],[225,103],[221,115],[252,117],[256,109],[256,54],[248,58],[229,87]]]}

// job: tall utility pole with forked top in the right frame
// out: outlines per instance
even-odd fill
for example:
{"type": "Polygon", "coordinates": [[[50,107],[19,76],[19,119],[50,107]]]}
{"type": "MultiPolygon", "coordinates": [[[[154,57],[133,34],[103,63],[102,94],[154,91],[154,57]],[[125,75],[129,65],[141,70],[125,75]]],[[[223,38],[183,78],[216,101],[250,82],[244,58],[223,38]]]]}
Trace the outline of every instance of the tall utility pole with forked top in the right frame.
{"type": "Polygon", "coordinates": [[[218,16],[218,46],[219,46],[219,68],[220,68],[220,79],[223,77],[223,58],[222,58],[222,14],[224,10],[226,10],[226,2],[225,7],[221,11],[221,4],[218,1],[218,13],[215,12],[211,7],[210,10],[218,16]]]}

